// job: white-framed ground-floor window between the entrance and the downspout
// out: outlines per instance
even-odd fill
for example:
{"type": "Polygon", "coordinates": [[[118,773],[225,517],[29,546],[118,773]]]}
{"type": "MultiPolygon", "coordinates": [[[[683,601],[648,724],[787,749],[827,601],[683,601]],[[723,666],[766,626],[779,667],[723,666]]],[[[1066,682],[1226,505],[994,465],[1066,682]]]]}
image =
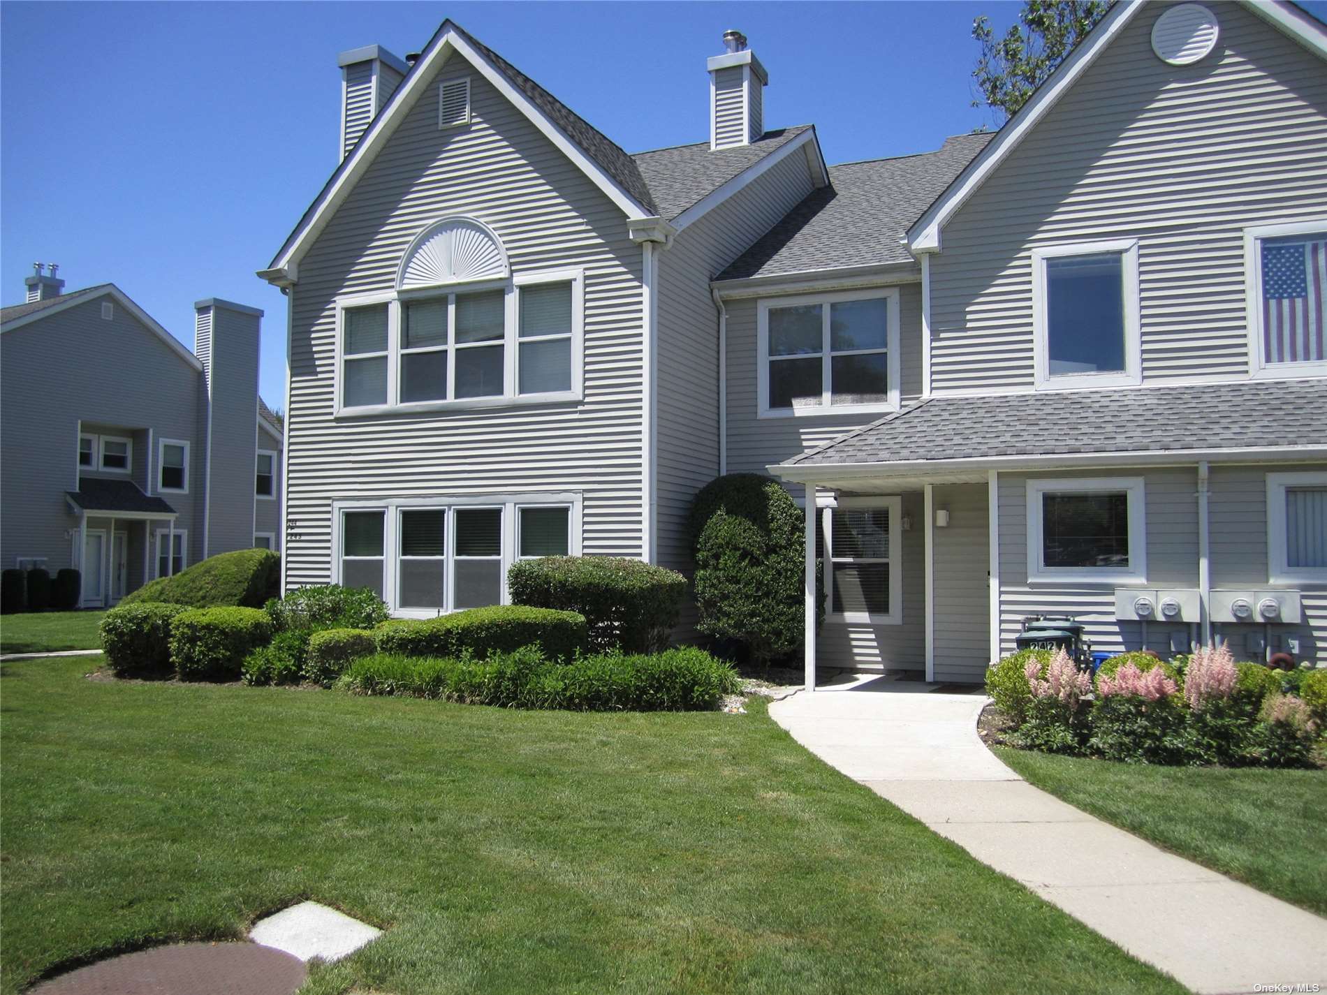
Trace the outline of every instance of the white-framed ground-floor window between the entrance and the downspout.
{"type": "Polygon", "coordinates": [[[1031,581],[1147,581],[1143,478],[1027,482],[1031,581]]]}

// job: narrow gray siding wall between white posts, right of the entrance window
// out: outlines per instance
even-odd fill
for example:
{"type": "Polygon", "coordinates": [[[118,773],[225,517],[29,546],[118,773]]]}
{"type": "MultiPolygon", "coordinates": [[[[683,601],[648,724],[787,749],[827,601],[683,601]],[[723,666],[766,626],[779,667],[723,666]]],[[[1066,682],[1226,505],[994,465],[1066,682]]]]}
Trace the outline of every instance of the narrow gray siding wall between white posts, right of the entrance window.
{"type": "MultiPolygon", "coordinates": [[[[949,525],[932,531],[934,678],[979,683],[990,657],[990,519],[986,484],[937,486],[949,525]]],[[[925,516],[914,523],[925,528],[925,516]]],[[[913,531],[918,527],[914,525],[913,531]]]]}

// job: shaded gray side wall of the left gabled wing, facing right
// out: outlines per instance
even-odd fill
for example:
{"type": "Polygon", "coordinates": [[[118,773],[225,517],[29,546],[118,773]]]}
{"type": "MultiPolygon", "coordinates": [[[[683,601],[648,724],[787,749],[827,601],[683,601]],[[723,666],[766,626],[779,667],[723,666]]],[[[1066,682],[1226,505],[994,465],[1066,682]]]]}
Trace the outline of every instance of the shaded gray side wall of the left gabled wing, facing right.
{"type": "Polygon", "coordinates": [[[690,569],[691,499],[719,474],[719,318],[710,280],[811,190],[807,158],[792,153],[685,228],[660,259],[656,486],[665,566],[690,569]]]}

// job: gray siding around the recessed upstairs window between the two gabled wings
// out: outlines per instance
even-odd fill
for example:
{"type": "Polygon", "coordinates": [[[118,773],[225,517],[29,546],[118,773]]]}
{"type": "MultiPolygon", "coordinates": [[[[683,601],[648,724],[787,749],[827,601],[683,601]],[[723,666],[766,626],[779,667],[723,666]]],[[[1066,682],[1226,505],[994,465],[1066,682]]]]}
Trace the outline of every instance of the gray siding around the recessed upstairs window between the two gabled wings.
{"type": "MultiPolygon", "coordinates": [[[[799,291],[808,293],[808,291],[799,291]]],[[[755,298],[727,302],[727,435],[729,471],[764,472],[847,431],[882,418],[877,414],[760,418],[758,325],[755,298]]],[[[921,397],[921,284],[898,287],[900,395],[902,403],[921,397]]]]}

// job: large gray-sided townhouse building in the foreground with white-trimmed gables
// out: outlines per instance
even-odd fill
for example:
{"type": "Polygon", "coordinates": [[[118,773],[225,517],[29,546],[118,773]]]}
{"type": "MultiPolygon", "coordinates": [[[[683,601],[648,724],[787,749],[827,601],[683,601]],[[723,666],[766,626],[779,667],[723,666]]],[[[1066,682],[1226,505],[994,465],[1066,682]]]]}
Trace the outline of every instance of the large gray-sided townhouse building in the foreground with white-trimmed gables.
{"type": "Polygon", "coordinates": [[[821,488],[821,663],[978,681],[1054,610],[1186,649],[1225,590],[1282,614],[1222,634],[1327,662],[1322,296],[1285,272],[1327,232],[1324,37],[1120,3],[994,137],[835,167],[764,129],[736,32],[710,139],[636,155],[451,21],[411,65],[346,53],[344,159],[260,273],[284,584],[431,614],[524,556],[686,570],[697,490],[770,470],[821,488]],[[1298,338],[1265,334],[1285,301],[1298,338]],[[1140,596],[1164,622],[1116,618],[1140,596]]]}

